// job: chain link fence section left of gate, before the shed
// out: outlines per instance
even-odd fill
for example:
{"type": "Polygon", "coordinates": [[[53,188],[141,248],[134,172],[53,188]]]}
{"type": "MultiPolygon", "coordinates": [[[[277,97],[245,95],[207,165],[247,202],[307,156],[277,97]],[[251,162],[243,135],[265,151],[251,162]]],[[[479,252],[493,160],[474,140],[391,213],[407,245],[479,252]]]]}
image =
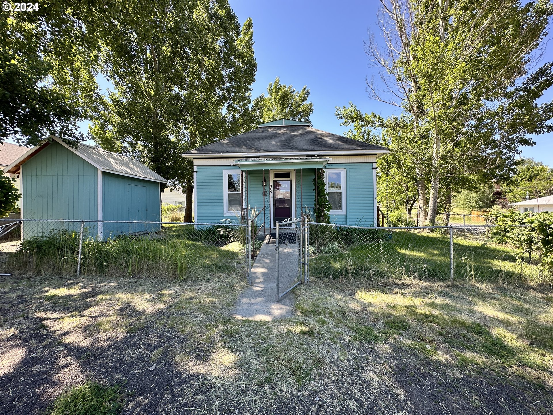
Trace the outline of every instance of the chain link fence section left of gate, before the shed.
{"type": "Polygon", "coordinates": [[[247,224],[0,220],[0,236],[8,227],[0,243],[0,272],[166,278],[249,274],[247,224]]]}

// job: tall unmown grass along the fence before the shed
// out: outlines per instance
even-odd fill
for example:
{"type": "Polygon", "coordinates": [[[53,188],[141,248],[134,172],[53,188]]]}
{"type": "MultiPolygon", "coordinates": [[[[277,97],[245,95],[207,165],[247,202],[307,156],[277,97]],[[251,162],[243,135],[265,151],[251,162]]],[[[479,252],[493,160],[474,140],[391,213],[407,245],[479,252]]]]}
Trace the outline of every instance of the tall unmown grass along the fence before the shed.
{"type": "MultiPolygon", "coordinates": [[[[245,231],[228,226],[168,225],[160,232],[100,241],[87,235],[81,273],[201,279],[241,268],[245,231]]],[[[56,230],[22,242],[8,258],[11,269],[37,274],[75,274],[79,232],[56,230]]]]}

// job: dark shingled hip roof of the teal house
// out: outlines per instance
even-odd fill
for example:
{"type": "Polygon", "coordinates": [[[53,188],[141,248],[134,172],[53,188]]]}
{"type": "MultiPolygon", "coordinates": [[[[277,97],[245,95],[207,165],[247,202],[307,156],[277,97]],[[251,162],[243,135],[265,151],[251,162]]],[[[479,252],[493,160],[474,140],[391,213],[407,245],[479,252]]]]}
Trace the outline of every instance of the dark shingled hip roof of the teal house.
{"type": "Polygon", "coordinates": [[[338,134],[321,131],[304,125],[259,127],[226,138],[207,146],[199,147],[182,155],[248,154],[248,153],[388,153],[388,149],[365,143],[338,134]]]}

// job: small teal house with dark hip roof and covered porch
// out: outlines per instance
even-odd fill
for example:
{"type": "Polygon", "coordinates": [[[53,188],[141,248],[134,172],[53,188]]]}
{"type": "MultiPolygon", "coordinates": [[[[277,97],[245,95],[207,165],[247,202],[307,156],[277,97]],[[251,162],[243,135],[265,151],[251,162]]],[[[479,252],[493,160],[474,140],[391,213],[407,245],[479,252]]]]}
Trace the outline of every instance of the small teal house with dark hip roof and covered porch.
{"type": "Polygon", "coordinates": [[[196,222],[238,221],[249,207],[264,209],[258,224],[274,228],[276,221],[312,214],[313,179],[321,168],[331,222],[376,224],[376,160],[385,153],[306,122],[277,120],[183,155],[194,162],[196,222]]]}

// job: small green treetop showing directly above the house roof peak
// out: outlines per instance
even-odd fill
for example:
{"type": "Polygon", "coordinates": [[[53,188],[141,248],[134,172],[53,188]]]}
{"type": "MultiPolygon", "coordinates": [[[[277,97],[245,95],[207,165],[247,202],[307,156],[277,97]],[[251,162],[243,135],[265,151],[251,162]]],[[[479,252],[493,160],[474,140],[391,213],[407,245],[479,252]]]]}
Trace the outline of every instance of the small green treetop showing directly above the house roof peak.
{"type": "Polygon", "coordinates": [[[280,118],[310,123],[313,103],[307,101],[309,94],[306,86],[298,92],[291,85],[280,84],[280,79],[276,77],[274,82],[269,82],[267,95],[261,94],[253,100],[252,127],[280,118]]]}

